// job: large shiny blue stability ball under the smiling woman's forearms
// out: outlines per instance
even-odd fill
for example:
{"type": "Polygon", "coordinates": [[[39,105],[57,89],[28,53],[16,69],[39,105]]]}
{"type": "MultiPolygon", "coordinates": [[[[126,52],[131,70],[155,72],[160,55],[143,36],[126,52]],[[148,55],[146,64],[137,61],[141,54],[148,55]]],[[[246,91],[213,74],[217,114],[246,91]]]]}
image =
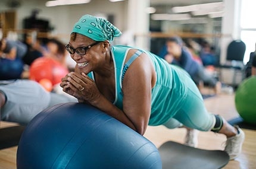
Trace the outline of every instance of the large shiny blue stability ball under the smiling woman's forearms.
{"type": "Polygon", "coordinates": [[[17,168],[162,168],[152,142],[95,107],[57,104],[27,125],[17,168]]]}

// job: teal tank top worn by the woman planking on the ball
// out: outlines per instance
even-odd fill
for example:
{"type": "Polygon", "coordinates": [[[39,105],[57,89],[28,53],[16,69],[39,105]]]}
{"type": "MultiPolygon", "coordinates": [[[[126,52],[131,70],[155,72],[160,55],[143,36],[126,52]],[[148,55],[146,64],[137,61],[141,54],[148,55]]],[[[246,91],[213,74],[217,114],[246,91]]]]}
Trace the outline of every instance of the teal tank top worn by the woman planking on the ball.
{"type": "MultiPolygon", "coordinates": [[[[188,78],[189,75],[183,69],[170,65],[166,60],[146,50],[138,49],[138,52],[124,65],[129,49],[134,48],[117,45],[111,49],[115,67],[115,100],[113,104],[123,110],[122,77],[133,60],[145,52],[152,60],[157,74],[156,84],[152,88],[151,116],[148,125],[163,125],[179,111],[186,97],[186,85],[193,81],[188,78]]],[[[94,80],[93,72],[90,72],[88,76],[94,80]]]]}

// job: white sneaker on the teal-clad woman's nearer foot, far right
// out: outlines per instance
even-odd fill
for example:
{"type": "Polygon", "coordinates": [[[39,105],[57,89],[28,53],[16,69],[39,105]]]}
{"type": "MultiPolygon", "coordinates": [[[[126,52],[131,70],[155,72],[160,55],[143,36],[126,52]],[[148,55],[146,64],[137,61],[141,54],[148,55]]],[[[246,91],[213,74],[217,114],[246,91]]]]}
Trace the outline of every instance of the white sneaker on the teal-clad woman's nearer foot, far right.
{"type": "Polygon", "coordinates": [[[239,134],[227,138],[226,147],[224,151],[229,154],[229,160],[234,160],[242,151],[243,141],[245,139],[245,133],[238,126],[234,126],[239,131],[239,134]]]}

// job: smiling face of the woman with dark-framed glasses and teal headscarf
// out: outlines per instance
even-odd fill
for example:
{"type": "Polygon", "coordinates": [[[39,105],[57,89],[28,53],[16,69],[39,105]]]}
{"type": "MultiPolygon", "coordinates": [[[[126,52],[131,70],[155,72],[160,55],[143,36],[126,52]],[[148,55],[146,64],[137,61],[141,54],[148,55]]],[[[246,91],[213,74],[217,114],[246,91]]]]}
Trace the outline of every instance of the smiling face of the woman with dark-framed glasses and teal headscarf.
{"type": "MultiPolygon", "coordinates": [[[[77,47],[88,47],[93,43],[95,43],[95,41],[89,37],[77,34],[76,39],[70,39],[68,46],[77,49],[77,47]]],[[[84,72],[85,74],[88,74],[91,71],[102,68],[102,64],[104,64],[104,56],[102,56],[99,44],[101,43],[95,44],[87,49],[85,55],[79,55],[76,52],[70,54],[71,58],[77,63],[77,68],[81,73],[84,72]]]]}

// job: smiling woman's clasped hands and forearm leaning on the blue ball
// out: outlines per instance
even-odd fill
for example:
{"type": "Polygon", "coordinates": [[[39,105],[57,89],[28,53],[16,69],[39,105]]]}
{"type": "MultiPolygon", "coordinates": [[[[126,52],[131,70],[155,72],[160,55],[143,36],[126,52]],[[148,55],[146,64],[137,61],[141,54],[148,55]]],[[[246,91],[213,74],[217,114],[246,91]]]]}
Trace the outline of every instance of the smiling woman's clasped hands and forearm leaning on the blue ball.
{"type": "Polygon", "coordinates": [[[95,82],[85,73],[79,74],[77,72],[70,72],[62,78],[61,81],[60,86],[63,88],[63,91],[76,97],[80,103],[91,104],[99,110],[102,110],[104,113],[131,127],[133,130],[136,130],[132,121],[127,118],[127,114],[107,100],[107,98],[99,92],[95,82]]]}

